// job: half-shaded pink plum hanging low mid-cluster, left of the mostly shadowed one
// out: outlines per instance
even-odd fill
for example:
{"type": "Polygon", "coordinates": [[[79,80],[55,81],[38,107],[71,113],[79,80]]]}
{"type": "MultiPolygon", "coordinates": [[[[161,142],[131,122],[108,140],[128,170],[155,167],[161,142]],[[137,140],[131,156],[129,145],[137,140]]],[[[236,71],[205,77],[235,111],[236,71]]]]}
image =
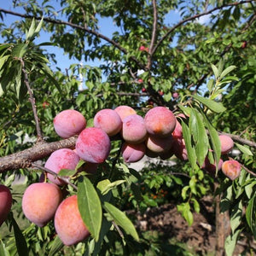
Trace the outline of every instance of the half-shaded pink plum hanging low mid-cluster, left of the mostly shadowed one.
{"type": "Polygon", "coordinates": [[[122,146],[122,155],[126,163],[134,163],[141,160],[145,152],[146,146],[144,143],[124,143],[122,146]]]}

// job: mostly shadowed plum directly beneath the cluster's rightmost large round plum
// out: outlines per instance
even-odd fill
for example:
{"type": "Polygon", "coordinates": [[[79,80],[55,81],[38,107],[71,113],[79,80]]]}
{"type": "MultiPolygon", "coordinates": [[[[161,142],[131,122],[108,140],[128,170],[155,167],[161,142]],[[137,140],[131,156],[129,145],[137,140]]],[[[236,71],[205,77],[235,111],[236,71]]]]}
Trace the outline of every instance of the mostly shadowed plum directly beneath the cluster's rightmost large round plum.
{"type": "Polygon", "coordinates": [[[148,136],[146,140],[146,146],[149,150],[161,154],[164,153],[172,148],[173,137],[154,137],[148,136]]]}

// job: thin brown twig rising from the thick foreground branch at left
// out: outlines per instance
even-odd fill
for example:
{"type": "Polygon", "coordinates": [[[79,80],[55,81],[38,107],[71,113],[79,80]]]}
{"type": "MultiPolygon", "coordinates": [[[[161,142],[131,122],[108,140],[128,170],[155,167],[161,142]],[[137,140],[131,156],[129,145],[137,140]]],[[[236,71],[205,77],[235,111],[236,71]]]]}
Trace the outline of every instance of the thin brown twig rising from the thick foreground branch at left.
{"type": "Polygon", "coordinates": [[[27,88],[28,93],[29,93],[29,101],[31,102],[32,111],[33,111],[34,119],[35,119],[35,122],[36,122],[38,142],[41,142],[41,141],[43,141],[43,136],[42,136],[42,131],[41,131],[40,124],[39,124],[39,119],[38,119],[36,100],[35,100],[35,97],[33,95],[32,89],[30,87],[29,80],[28,80],[28,75],[26,73],[25,63],[24,63],[22,58],[20,58],[20,63],[21,63],[22,73],[24,74],[24,83],[26,84],[26,88],[27,88]]]}

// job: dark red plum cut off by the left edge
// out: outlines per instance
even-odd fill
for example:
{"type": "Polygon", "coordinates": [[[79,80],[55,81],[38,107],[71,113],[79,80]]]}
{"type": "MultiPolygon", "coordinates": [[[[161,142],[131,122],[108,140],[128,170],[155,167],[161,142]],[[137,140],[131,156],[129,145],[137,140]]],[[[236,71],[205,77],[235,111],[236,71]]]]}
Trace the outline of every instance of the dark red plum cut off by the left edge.
{"type": "Polygon", "coordinates": [[[0,184],[0,227],[8,217],[12,207],[12,194],[8,187],[0,184]]]}

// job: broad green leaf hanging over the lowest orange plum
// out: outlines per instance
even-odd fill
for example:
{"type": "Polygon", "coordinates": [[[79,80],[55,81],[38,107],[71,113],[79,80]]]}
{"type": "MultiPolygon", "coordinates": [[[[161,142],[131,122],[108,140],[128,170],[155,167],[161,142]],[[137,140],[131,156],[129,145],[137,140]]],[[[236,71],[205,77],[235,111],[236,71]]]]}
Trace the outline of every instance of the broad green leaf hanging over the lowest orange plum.
{"type": "Polygon", "coordinates": [[[79,177],[78,201],[84,224],[91,236],[98,241],[102,226],[102,204],[96,189],[87,177],[79,177]]]}

